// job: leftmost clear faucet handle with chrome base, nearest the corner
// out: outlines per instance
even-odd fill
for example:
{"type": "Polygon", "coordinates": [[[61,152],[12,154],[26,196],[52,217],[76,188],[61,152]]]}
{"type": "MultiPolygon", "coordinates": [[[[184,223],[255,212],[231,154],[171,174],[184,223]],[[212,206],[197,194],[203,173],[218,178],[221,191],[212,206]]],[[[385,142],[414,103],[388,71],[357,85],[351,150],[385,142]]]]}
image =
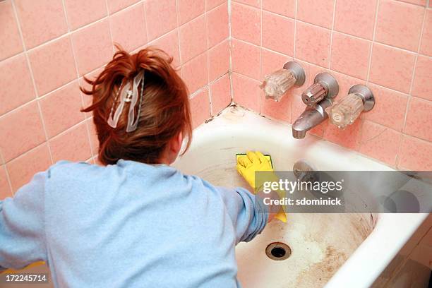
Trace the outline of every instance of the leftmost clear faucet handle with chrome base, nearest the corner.
{"type": "Polygon", "coordinates": [[[292,86],[303,85],[305,78],[303,68],[298,63],[291,61],[286,63],[284,68],[265,76],[260,88],[264,90],[266,99],[279,102],[292,86]]]}

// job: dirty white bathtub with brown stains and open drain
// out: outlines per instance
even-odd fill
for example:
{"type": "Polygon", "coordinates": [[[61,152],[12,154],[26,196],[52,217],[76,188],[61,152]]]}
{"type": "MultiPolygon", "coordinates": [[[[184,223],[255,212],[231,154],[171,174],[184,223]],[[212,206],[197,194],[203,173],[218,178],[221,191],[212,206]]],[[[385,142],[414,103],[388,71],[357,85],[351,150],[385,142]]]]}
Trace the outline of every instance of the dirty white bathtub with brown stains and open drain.
{"type": "MultiPolygon", "coordinates": [[[[277,170],[292,170],[297,160],[327,171],[391,170],[314,136],[296,140],[291,126],[236,105],[196,128],[191,148],[174,166],[214,185],[247,187],[235,171],[236,153],[246,150],[270,154],[277,170]]],[[[238,277],[244,287],[383,287],[383,272],[386,268],[387,274],[393,272],[388,271],[389,264],[428,214],[288,211],[287,217],[287,224],[272,221],[256,239],[236,247],[238,277]],[[287,244],[291,256],[280,261],[270,259],[265,248],[272,242],[287,244]]]]}

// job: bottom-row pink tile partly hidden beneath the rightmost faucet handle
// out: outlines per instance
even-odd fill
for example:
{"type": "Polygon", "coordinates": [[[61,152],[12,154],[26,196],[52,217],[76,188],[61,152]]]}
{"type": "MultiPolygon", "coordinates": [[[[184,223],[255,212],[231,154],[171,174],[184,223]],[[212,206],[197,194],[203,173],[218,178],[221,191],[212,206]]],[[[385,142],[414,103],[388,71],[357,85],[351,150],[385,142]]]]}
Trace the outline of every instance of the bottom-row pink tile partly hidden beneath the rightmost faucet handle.
{"type": "Polygon", "coordinates": [[[337,128],[335,125],[328,123],[325,128],[324,139],[348,149],[358,150],[361,122],[362,119],[356,119],[352,125],[347,126],[345,129],[337,128]]]}

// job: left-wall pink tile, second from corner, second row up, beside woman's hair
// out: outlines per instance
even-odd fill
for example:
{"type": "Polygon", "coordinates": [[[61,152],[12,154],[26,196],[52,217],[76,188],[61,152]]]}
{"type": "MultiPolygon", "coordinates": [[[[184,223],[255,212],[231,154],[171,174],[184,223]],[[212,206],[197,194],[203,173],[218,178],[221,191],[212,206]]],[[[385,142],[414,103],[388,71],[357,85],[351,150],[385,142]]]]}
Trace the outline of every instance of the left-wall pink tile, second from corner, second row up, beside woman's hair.
{"type": "Polygon", "coordinates": [[[192,94],[208,84],[207,53],[196,56],[181,67],[181,76],[192,94]]]}

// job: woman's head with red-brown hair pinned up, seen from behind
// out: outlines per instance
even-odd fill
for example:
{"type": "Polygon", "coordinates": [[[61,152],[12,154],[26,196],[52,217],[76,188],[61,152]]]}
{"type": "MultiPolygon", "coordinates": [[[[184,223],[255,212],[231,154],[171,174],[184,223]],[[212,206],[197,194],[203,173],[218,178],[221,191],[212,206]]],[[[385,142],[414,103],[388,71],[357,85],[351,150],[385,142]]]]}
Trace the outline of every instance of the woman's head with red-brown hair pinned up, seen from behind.
{"type": "Polygon", "coordinates": [[[192,134],[188,92],[171,63],[172,58],[159,49],[146,48],[136,54],[119,49],[95,80],[85,78],[92,88],[81,90],[92,95],[93,100],[83,112],[93,112],[100,162],[115,164],[124,159],[169,164],[175,160],[184,137],[187,150],[192,134]],[[135,93],[138,101],[131,108],[135,118],[140,113],[138,126],[127,132],[126,128],[131,130],[128,116],[133,102],[126,100],[123,109],[119,109],[119,105],[121,98],[127,95],[124,88],[132,88],[133,80],[137,83],[140,73],[143,73],[143,82],[134,89],[138,91],[135,93]],[[110,114],[112,116],[116,110],[121,114],[116,125],[112,122],[110,125],[110,114]]]}

